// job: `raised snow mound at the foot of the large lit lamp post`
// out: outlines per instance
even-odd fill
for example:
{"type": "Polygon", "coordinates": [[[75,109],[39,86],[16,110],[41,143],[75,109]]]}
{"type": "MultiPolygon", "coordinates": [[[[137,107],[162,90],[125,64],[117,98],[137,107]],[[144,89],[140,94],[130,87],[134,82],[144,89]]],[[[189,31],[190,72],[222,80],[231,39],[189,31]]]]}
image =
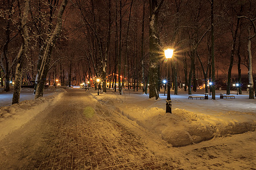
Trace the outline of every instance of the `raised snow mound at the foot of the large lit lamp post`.
{"type": "Polygon", "coordinates": [[[184,109],[175,109],[170,114],[159,108],[131,109],[129,106],[121,111],[123,115],[137,121],[137,124],[143,128],[161,134],[162,139],[172,146],[185,146],[207,141],[213,137],[254,131],[256,126],[255,121],[252,120],[239,121],[216,118],[207,114],[197,115],[184,109]]]}

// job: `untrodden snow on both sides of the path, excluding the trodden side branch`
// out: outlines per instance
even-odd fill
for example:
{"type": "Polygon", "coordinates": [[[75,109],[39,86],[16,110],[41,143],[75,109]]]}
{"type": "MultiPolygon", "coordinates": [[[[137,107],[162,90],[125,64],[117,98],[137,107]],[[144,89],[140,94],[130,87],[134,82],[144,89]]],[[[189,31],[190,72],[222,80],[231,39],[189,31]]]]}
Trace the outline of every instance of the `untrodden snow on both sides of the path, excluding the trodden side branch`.
{"type": "MultiPolygon", "coordinates": [[[[0,139],[26,124],[48,105],[55,104],[61,97],[61,93],[56,91],[63,92],[61,88],[49,88],[44,95],[46,97],[32,100],[32,91],[22,89],[21,102],[11,106],[7,106],[11,104],[11,92],[1,92],[0,105],[3,107],[0,107],[0,139]]],[[[217,91],[217,100],[210,100],[210,96],[209,100],[190,100],[186,92],[180,90],[179,95],[171,95],[171,114],[165,112],[167,96],[163,95],[163,91],[158,100],[148,99],[148,95],[141,91],[123,90],[123,95],[108,91],[99,96],[93,92],[95,99],[104,101],[106,107],[113,107],[117,113],[147,131],[160,135],[160,138],[175,147],[255,130],[256,104],[255,99],[248,99],[248,94],[238,95],[236,99],[219,99],[218,94],[225,92],[217,91]]],[[[204,91],[199,91],[193,96],[203,94],[204,91]]]]}

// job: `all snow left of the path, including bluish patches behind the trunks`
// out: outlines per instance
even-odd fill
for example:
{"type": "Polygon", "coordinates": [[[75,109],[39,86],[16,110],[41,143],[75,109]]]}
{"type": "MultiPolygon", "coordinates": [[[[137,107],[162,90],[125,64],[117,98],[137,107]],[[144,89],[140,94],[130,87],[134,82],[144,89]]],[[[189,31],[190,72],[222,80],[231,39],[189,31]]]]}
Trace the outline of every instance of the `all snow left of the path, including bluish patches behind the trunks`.
{"type": "Polygon", "coordinates": [[[64,92],[60,88],[48,88],[45,90],[46,97],[34,99],[34,89],[23,88],[20,93],[20,103],[11,105],[13,88],[10,92],[3,92],[3,88],[0,90],[0,140],[26,124],[49,105],[55,104],[64,92]]]}

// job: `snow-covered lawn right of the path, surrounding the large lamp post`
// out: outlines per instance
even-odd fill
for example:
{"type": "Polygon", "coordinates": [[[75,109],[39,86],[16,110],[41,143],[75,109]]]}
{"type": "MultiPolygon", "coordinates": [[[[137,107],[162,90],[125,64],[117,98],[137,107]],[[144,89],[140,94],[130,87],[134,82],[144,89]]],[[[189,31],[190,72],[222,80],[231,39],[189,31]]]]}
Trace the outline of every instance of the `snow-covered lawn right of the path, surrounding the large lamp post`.
{"type": "MultiPolygon", "coordinates": [[[[133,91],[123,91],[123,95],[108,92],[95,97],[107,107],[113,105],[137,126],[177,147],[255,130],[255,99],[248,99],[248,94],[238,95],[236,99],[219,99],[220,92],[225,93],[216,91],[217,100],[190,100],[189,95],[179,91],[179,95],[171,95],[172,114],[165,113],[167,96],[163,92],[158,100],[133,91]]],[[[193,96],[204,96],[204,91],[193,96]]]]}

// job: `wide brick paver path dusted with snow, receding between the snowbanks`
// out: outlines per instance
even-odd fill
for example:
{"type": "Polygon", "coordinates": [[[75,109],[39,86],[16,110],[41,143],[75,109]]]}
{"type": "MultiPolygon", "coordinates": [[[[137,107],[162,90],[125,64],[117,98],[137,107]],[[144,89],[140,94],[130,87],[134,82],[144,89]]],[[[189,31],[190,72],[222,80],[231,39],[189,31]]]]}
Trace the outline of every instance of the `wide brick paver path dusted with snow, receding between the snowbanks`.
{"type": "Polygon", "coordinates": [[[85,91],[68,90],[1,147],[6,158],[1,169],[163,168],[138,137],[85,91]]]}

